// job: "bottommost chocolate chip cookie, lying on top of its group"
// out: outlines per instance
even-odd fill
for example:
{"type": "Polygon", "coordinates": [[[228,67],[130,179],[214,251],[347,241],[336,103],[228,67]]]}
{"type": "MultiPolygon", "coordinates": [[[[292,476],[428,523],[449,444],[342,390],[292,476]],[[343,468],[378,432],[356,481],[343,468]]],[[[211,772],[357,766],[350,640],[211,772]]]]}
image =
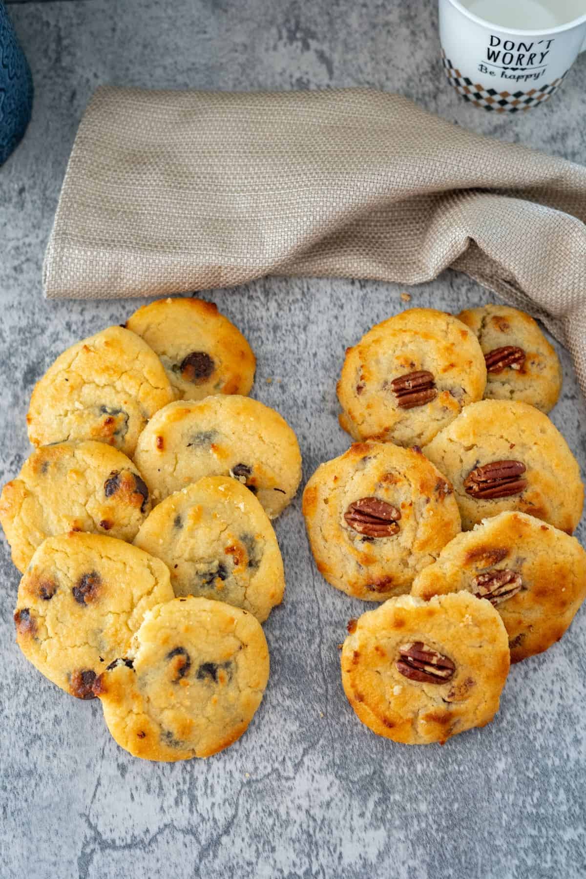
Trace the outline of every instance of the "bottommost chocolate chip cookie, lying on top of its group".
{"type": "Polygon", "coordinates": [[[131,650],[94,684],[121,748],[148,760],[211,757],[242,736],[269,679],[252,614],[174,599],[145,616],[131,650]]]}

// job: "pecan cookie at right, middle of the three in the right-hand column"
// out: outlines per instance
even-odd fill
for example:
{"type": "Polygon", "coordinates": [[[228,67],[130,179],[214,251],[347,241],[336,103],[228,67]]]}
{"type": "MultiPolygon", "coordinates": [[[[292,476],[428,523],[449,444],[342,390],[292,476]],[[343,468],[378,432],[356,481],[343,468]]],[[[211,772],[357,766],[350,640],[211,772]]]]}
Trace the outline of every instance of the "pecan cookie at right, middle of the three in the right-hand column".
{"type": "Polygon", "coordinates": [[[580,521],[580,468],[561,433],[528,403],[473,403],[423,452],[452,483],[465,531],[505,510],[568,534],[580,521]]]}

